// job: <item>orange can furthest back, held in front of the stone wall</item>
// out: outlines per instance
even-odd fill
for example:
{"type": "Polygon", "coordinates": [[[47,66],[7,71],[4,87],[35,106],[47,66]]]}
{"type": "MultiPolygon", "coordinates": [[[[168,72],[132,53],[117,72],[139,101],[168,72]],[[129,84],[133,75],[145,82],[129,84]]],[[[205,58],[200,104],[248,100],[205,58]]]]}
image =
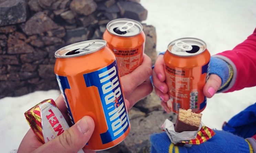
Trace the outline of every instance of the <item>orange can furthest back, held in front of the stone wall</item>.
{"type": "Polygon", "coordinates": [[[143,60],[145,34],[142,25],[131,19],[116,19],[107,24],[103,39],[115,53],[120,76],[131,73],[143,60]]]}

